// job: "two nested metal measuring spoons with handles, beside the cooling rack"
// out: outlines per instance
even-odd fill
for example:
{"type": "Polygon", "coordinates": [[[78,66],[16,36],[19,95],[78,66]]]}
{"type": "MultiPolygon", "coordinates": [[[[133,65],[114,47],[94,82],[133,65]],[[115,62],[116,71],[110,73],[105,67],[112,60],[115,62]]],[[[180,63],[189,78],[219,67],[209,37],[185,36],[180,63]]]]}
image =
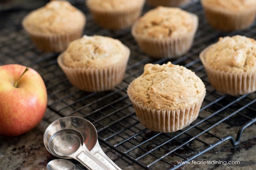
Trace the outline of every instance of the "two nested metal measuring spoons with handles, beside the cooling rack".
{"type": "Polygon", "coordinates": [[[44,145],[53,155],[76,159],[89,170],[121,170],[103,152],[94,125],[78,116],[67,116],[52,122],[45,130],[44,145]]]}

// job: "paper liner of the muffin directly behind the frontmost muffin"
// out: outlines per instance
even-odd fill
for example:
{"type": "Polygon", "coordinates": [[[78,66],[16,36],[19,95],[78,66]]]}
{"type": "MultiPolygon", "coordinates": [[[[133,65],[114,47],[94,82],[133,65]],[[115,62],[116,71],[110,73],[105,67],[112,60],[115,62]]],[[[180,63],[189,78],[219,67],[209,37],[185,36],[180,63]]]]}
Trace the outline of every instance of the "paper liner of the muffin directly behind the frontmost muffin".
{"type": "Polygon", "coordinates": [[[194,20],[194,29],[186,35],[175,38],[155,39],[137,34],[135,29],[137,22],[131,29],[131,34],[139,45],[141,51],[154,58],[178,58],[186,54],[194,41],[194,36],[198,28],[198,17],[191,14],[194,20]]]}

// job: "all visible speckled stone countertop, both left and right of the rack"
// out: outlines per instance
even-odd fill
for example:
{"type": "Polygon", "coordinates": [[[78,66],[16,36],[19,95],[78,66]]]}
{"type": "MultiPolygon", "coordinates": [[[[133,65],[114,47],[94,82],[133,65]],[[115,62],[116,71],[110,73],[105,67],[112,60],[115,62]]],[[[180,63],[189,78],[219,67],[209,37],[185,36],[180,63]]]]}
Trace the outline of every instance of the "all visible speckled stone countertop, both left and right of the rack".
{"type": "MultiPolygon", "coordinates": [[[[52,159],[57,159],[57,157],[52,156],[44,147],[44,130],[58,118],[60,117],[47,110],[40,124],[28,133],[15,137],[0,136],[0,170],[47,170],[47,163],[52,159]]],[[[190,162],[190,164],[181,167],[180,170],[255,170],[255,128],[256,125],[254,124],[247,127],[237,146],[233,146],[229,141],[223,142],[221,145],[194,159],[197,164],[190,162]],[[215,161],[217,163],[203,164],[202,161],[215,161]],[[240,161],[240,164],[224,165],[218,164],[218,161],[240,161]]],[[[218,129],[221,129],[221,125],[218,129]]],[[[143,170],[143,168],[115,153],[110,148],[100,145],[102,150],[122,170],[143,170]]],[[[78,162],[72,161],[81,166],[78,162]]]]}

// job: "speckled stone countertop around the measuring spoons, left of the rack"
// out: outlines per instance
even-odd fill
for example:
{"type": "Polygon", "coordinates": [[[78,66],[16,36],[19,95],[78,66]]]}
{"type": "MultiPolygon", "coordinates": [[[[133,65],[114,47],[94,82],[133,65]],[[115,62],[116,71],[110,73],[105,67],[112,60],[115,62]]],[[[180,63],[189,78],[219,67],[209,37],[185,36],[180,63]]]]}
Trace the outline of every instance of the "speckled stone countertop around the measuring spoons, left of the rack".
{"type": "MultiPolygon", "coordinates": [[[[44,131],[58,118],[60,118],[58,115],[47,110],[40,124],[28,133],[20,136],[0,136],[0,170],[47,170],[47,163],[58,157],[53,156],[44,147],[44,131]]],[[[122,170],[143,170],[109,147],[100,145],[108,157],[122,170]]],[[[82,167],[77,161],[71,161],[82,167]]]]}

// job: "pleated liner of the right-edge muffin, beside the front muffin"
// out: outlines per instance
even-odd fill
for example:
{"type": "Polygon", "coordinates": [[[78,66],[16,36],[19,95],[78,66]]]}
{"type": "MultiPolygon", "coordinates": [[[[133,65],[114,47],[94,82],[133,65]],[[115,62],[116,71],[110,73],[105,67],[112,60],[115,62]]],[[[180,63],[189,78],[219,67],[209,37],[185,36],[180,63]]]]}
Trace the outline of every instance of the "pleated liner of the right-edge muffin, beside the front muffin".
{"type": "Polygon", "coordinates": [[[210,84],[217,91],[233,96],[256,91],[256,72],[224,72],[211,68],[205,61],[205,53],[211,45],[199,55],[210,84]]]}

